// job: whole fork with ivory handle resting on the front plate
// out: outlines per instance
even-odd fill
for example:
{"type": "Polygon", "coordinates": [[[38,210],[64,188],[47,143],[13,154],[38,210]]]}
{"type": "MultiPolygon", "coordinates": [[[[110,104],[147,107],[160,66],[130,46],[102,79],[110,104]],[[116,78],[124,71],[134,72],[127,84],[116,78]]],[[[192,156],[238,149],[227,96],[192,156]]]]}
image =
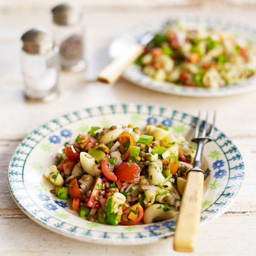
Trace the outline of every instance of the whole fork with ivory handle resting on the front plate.
{"type": "Polygon", "coordinates": [[[197,118],[194,138],[191,140],[197,143],[197,152],[193,161],[193,168],[187,172],[187,181],[183,192],[182,203],[176,224],[174,234],[174,249],[176,251],[191,252],[194,251],[198,225],[200,221],[200,212],[203,194],[204,171],[202,169],[202,158],[204,145],[212,141],[215,130],[215,117],[211,124],[210,132],[207,136],[207,119],[204,121],[204,128],[202,135],[200,132],[200,113],[197,118]]]}

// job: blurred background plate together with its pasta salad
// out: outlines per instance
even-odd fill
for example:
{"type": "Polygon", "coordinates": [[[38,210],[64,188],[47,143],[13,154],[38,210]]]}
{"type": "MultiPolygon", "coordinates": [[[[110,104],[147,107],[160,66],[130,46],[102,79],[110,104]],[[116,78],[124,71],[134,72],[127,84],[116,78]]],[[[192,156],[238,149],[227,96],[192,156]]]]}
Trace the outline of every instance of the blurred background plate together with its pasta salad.
{"type": "Polygon", "coordinates": [[[125,79],[150,90],[194,97],[256,88],[253,27],[202,17],[151,20],[116,36],[109,58],[122,55],[147,32],[156,36],[125,70],[125,79]]]}

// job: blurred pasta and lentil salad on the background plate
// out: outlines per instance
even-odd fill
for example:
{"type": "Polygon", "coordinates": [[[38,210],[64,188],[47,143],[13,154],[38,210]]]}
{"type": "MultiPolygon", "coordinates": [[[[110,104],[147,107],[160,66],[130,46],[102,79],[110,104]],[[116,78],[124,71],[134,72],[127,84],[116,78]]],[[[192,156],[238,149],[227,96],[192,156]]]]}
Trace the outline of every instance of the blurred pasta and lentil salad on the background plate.
{"type": "Polygon", "coordinates": [[[229,32],[177,22],[155,35],[136,64],[155,80],[217,89],[254,75],[256,51],[229,32]]]}

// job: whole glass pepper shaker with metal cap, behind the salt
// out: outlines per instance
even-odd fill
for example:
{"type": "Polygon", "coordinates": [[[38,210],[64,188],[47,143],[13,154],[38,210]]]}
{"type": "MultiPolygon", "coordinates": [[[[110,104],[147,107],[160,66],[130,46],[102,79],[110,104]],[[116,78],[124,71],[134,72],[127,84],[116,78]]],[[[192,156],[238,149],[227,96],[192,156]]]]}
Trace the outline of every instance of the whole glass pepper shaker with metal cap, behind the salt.
{"type": "Polygon", "coordinates": [[[52,15],[62,70],[68,72],[84,70],[86,61],[81,8],[75,4],[61,4],[52,9],[52,15]]]}

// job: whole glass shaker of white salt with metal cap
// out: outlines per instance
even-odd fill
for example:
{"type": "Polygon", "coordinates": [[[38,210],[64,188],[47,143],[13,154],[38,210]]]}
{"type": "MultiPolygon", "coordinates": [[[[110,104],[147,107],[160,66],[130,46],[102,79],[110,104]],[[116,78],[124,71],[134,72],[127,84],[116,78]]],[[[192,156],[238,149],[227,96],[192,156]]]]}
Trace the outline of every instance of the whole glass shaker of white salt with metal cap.
{"type": "Polygon", "coordinates": [[[37,27],[23,34],[22,41],[22,73],[26,98],[37,101],[55,99],[58,95],[60,61],[52,31],[37,27]]]}

